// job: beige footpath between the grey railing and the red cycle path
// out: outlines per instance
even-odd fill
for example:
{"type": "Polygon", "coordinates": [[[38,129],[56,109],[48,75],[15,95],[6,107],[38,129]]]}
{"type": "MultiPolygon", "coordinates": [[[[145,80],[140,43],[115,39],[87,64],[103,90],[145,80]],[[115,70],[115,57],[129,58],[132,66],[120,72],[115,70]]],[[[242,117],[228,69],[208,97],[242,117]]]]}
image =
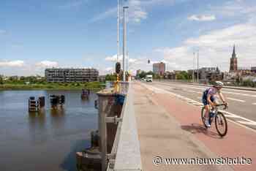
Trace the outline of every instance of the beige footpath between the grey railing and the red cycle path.
{"type": "MultiPolygon", "coordinates": [[[[165,158],[218,158],[203,142],[181,129],[180,123],[160,107],[152,91],[133,83],[135,116],[140,140],[143,170],[233,170],[227,165],[153,164],[156,156],[165,158]]],[[[165,162],[165,161],[162,161],[165,162]]]]}

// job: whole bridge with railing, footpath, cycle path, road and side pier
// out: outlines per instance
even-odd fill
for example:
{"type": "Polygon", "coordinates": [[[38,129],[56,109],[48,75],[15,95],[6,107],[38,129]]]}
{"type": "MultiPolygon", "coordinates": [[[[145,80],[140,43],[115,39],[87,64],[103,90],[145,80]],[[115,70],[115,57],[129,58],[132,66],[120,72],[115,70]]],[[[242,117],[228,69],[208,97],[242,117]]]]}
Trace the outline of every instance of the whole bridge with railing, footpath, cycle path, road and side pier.
{"type": "Polygon", "coordinates": [[[256,91],[223,88],[230,107],[222,111],[227,135],[219,137],[215,126],[206,129],[200,119],[206,87],[127,83],[121,114],[110,117],[99,112],[102,170],[255,170],[256,91]],[[108,133],[108,123],[117,125],[114,136],[108,133]],[[111,137],[113,146],[108,151],[111,137]]]}

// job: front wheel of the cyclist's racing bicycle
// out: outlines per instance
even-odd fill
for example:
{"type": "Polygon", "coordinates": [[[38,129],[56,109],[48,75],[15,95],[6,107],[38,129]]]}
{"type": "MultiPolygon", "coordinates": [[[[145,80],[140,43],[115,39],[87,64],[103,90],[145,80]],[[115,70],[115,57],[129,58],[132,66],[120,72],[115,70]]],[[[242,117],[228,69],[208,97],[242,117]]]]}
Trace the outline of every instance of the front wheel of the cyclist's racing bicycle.
{"type": "Polygon", "coordinates": [[[227,120],[223,113],[218,112],[215,116],[215,127],[217,129],[218,134],[221,137],[224,137],[227,134],[227,120]]]}

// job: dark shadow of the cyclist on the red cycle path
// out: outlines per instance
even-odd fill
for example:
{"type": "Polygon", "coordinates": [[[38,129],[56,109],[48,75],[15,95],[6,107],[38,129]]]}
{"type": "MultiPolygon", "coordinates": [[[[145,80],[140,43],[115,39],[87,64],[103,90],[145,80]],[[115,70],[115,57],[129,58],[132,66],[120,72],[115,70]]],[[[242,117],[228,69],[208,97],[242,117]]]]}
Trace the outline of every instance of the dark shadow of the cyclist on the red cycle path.
{"type": "Polygon", "coordinates": [[[206,129],[203,124],[199,123],[192,123],[191,125],[182,125],[181,129],[184,129],[187,132],[190,132],[192,134],[206,134],[209,137],[213,137],[216,139],[221,139],[222,137],[219,137],[219,134],[216,132],[211,131],[211,129],[206,129]]]}

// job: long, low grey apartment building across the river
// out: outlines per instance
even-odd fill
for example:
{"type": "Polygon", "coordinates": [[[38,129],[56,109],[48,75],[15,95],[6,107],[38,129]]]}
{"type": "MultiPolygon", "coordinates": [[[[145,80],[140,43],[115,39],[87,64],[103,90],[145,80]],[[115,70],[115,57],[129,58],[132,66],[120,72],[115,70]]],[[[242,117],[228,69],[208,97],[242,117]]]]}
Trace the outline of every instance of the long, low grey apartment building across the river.
{"type": "Polygon", "coordinates": [[[46,80],[50,83],[72,83],[97,81],[99,72],[97,69],[69,69],[69,68],[51,68],[45,69],[46,80]]]}

